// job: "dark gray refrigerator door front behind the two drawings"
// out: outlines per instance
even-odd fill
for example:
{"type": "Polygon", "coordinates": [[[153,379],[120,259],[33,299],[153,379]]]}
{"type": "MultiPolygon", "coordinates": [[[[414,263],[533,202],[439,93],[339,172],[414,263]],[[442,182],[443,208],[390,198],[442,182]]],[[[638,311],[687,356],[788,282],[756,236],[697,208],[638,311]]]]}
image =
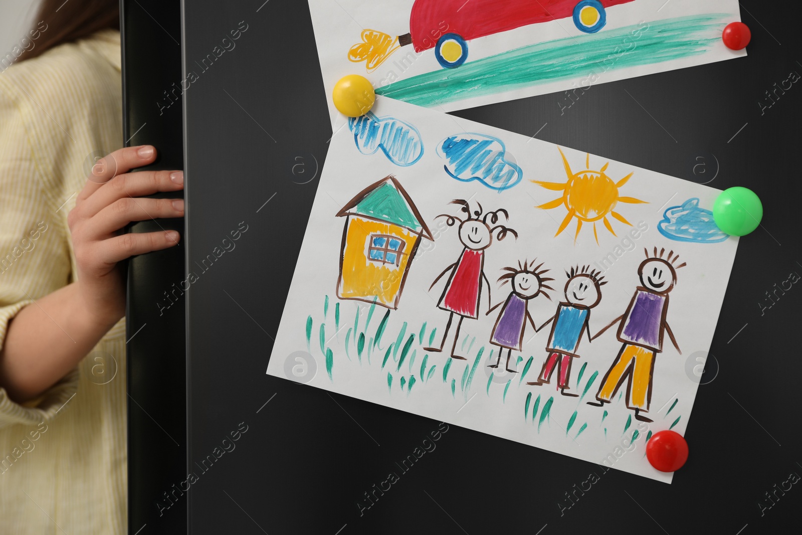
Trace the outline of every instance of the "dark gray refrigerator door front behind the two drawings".
{"type": "Polygon", "coordinates": [[[691,457],[673,484],[612,470],[573,494],[596,464],[452,425],[360,510],[439,423],[265,375],[332,135],[309,8],[184,2],[189,532],[747,535],[798,525],[802,490],[759,504],[802,473],[802,290],[768,310],[759,303],[802,272],[792,222],[802,90],[762,114],[758,101],[802,72],[800,34],[776,4],[745,0],[742,15],[753,33],[746,59],[594,86],[565,113],[561,95],[456,112],[762,198],[763,227],[740,241],[707,364],[715,379],[699,387],[691,457]],[[744,385],[761,395],[741,405],[731,393],[744,385]],[[561,508],[566,493],[573,505],[561,508]]]}

